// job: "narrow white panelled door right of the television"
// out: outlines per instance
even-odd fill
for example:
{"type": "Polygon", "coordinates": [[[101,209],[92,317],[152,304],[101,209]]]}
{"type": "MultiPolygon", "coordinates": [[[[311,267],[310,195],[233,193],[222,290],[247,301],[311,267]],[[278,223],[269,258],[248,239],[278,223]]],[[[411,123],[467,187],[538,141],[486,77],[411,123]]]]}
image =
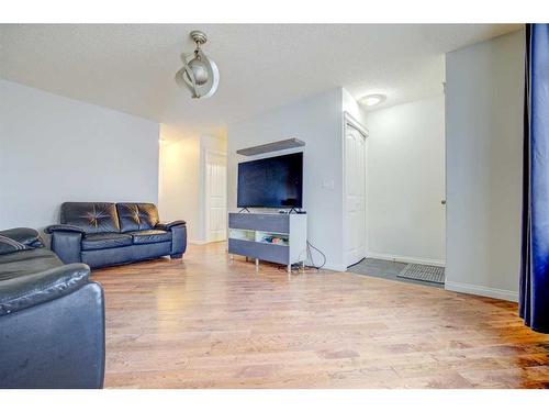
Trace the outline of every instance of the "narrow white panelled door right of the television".
{"type": "Polygon", "coordinates": [[[366,136],[345,127],[345,204],[347,266],[366,257],[366,136]]]}

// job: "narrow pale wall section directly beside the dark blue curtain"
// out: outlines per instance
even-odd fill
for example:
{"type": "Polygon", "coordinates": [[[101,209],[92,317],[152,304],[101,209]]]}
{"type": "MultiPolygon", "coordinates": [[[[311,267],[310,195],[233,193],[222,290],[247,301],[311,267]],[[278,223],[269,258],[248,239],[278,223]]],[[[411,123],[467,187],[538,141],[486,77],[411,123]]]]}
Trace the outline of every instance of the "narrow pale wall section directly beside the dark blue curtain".
{"type": "Polygon", "coordinates": [[[446,288],[516,300],[524,32],[449,53],[446,70],[446,288]]]}

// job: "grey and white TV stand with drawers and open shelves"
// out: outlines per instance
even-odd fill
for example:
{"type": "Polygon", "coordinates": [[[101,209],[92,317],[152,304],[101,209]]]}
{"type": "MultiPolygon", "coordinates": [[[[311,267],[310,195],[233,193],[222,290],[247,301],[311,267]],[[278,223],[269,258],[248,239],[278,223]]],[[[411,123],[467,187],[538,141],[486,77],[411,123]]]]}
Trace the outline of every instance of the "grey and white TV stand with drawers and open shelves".
{"type": "Polygon", "coordinates": [[[228,253],[285,265],[304,265],[306,214],[228,213],[228,253]]]}

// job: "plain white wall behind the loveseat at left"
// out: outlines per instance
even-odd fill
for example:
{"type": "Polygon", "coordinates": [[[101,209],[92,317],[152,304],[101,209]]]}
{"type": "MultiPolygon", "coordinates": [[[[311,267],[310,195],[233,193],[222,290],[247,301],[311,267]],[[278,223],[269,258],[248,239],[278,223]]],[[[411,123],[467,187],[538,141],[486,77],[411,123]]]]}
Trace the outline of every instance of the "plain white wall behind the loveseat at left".
{"type": "Polygon", "coordinates": [[[65,201],[157,196],[157,123],[0,80],[0,229],[56,223],[65,201]]]}

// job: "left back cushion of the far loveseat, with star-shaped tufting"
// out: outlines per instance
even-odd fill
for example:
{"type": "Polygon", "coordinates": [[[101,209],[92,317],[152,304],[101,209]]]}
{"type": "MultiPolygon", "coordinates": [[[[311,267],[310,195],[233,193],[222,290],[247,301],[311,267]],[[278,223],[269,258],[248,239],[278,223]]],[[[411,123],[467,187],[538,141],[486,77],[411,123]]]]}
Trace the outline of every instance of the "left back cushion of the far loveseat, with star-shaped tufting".
{"type": "Polygon", "coordinates": [[[81,227],[86,233],[120,232],[114,203],[65,202],[61,204],[60,221],[81,227]]]}

